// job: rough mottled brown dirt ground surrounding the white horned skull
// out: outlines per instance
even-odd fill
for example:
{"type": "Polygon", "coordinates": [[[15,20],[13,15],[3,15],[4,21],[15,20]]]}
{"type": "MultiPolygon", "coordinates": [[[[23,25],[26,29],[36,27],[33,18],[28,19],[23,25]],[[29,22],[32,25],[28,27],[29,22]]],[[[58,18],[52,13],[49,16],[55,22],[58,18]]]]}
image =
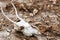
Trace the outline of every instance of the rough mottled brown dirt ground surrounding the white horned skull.
{"type": "MultiPolygon", "coordinates": [[[[10,0],[3,2],[5,14],[19,22],[10,0]]],[[[19,16],[41,32],[40,40],[60,40],[60,0],[13,0],[19,16]]],[[[0,10],[0,40],[38,40],[34,35],[25,36],[22,32],[12,31],[13,23],[7,20],[0,10]],[[8,36],[7,36],[8,35],[8,36]]]]}

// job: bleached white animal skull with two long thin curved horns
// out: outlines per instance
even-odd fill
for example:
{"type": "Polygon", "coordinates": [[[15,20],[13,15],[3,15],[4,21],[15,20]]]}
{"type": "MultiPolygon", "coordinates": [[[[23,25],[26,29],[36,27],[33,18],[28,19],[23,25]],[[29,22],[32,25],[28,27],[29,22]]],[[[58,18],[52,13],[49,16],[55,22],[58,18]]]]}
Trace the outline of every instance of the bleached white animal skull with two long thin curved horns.
{"type": "Polygon", "coordinates": [[[37,34],[37,35],[40,34],[40,32],[39,32],[37,29],[32,28],[29,23],[25,22],[22,18],[20,18],[20,17],[18,16],[16,7],[14,6],[14,4],[13,4],[12,2],[11,2],[11,4],[13,5],[13,8],[14,8],[14,10],[15,10],[15,14],[16,14],[17,18],[19,18],[21,21],[19,21],[19,22],[14,22],[13,20],[9,19],[9,18],[5,15],[5,13],[3,12],[3,9],[2,9],[2,7],[1,7],[2,14],[3,14],[9,21],[11,21],[12,23],[14,23],[14,24],[17,25],[18,27],[23,26],[24,29],[21,30],[21,31],[22,31],[23,34],[25,34],[26,36],[32,36],[32,35],[34,35],[34,34],[37,34]]]}

